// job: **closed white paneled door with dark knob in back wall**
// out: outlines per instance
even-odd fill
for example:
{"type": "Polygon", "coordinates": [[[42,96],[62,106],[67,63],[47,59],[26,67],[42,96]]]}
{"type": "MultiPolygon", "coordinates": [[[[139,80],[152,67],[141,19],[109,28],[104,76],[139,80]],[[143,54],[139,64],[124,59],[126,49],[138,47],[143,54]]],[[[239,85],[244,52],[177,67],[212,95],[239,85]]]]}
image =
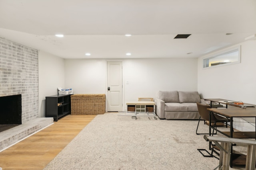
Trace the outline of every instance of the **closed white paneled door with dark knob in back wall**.
{"type": "Polygon", "coordinates": [[[108,111],[122,111],[122,61],[108,61],[108,111]]]}

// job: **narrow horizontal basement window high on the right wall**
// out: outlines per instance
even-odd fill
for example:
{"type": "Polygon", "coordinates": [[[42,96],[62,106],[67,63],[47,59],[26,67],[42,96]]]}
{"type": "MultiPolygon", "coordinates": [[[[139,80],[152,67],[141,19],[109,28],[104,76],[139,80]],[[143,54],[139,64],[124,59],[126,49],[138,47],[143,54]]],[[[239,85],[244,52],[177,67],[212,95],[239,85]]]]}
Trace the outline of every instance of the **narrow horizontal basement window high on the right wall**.
{"type": "Polygon", "coordinates": [[[240,49],[241,47],[239,46],[204,58],[203,68],[212,68],[240,63],[240,49]]]}

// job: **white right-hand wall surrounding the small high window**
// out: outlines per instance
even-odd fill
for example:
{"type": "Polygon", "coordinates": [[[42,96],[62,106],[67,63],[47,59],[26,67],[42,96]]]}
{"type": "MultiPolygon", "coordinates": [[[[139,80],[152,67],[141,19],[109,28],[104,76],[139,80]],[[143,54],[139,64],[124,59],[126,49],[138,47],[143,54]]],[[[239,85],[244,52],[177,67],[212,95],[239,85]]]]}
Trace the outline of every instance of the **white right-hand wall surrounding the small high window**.
{"type": "MultiPolygon", "coordinates": [[[[202,59],[209,55],[198,59],[198,92],[203,94],[203,98],[222,98],[256,104],[256,41],[245,41],[238,45],[241,45],[239,64],[203,69],[202,59]]],[[[255,122],[253,119],[246,120],[255,122]]],[[[235,128],[252,128],[255,131],[255,127],[248,123],[236,122],[235,128]]]]}

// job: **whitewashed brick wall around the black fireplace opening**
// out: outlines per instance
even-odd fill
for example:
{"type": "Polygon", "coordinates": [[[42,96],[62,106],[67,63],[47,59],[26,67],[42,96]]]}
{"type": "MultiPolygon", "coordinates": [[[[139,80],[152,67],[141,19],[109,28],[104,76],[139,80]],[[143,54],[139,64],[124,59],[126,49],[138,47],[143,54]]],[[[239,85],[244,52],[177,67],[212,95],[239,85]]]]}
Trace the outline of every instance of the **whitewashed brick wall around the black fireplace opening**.
{"type": "Polygon", "coordinates": [[[38,50],[0,38],[0,96],[22,95],[22,123],[38,117],[38,50]]]}

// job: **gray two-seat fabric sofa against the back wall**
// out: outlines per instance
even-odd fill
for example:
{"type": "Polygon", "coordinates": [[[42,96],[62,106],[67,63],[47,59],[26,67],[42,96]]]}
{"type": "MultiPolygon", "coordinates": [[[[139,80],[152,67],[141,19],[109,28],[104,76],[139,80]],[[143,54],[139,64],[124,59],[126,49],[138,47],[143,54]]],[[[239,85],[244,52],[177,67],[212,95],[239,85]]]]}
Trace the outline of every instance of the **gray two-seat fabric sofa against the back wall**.
{"type": "Polygon", "coordinates": [[[198,92],[159,91],[155,98],[156,114],[160,119],[199,119],[196,102],[198,92]]]}

